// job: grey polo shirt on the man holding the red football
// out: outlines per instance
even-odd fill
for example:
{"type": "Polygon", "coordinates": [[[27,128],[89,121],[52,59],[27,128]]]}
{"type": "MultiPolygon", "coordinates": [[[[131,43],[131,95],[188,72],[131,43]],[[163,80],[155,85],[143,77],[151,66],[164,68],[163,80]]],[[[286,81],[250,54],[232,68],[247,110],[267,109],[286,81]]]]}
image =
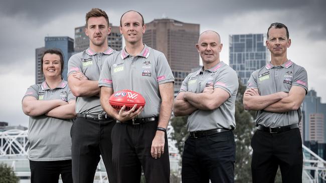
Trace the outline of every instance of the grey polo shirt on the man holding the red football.
{"type": "Polygon", "coordinates": [[[99,86],[113,87],[113,91],[131,89],[146,101],[140,118],[159,115],[161,97],[158,85],[174,82],[168,60],[162,52],[144,45],[136,56],[124,49],[107,58],[101,71],[99,86]]]}

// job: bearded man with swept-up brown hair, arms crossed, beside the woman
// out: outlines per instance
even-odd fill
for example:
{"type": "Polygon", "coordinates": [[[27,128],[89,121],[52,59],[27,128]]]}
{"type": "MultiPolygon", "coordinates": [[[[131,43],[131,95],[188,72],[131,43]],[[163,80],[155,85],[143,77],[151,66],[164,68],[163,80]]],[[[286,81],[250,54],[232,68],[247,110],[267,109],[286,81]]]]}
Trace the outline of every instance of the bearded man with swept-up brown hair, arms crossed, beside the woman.
{"type": "Polygon", "coordinates": [[[115,121],[102,109],[98,87],[103,62],[115,52],[107,44],[111,27],[106,12],[99,8],[86,13],[86,26],[89,48],[68,61],[69,86],[77,96],[77,119],[71,128],[73,180],[93,182],[101,155],[108,179],[114,183],[111,130],[115,121]]]}

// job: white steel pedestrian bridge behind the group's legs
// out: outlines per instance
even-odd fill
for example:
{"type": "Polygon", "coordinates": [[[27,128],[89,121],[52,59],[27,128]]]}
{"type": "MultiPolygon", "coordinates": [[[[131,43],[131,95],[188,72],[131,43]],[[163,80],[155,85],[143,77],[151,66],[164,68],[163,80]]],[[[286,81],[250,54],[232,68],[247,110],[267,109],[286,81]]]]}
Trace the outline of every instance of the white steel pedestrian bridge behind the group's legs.
{"type": "MultiPolygon", "coordinates": [[[[168,126],[169,153],[171,170],[180,172],[180,155],[171,138],[173,127],[168,126]]],[[[10,165],[21,182],[30,182],[30,168],[27,159],[29,141],[28,130],[10,129],[0,132],[0,162],[10,165]]],[[[303,182],[319,183],[326,180],[326,161],[302,144],[303,149],[303,182]]],[[[109,182],[103,161],[98,164],[94,182],[109,182]]]]}

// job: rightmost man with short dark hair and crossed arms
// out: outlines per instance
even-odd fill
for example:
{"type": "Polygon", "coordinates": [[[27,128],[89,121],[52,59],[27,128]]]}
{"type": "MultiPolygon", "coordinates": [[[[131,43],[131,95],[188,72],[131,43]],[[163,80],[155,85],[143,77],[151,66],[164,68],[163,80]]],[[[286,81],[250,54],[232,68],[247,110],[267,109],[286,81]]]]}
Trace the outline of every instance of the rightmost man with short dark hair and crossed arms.
{"type": "Polygon", "coordinates": [[[257,110],[251,146],[252,181],[274,182],[280,167],[283,183],[302,182],[300,105],[308,92],[306,70],[287,58],[291,45],[283,23],[272,23],[266,46],[271,60],[252,72],[243,95],[246,110],[257,110]]]}

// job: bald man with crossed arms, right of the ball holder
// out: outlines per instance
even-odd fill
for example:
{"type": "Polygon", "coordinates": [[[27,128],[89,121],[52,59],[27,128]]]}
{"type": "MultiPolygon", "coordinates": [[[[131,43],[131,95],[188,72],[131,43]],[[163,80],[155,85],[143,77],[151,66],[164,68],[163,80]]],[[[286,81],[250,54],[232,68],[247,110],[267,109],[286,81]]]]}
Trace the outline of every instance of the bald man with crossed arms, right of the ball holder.
{"type": "Polygon", "coordinates": [[[223,61],[220,35],[204,31],[196,44],[203,67],[190,73],[174,103],[176,116],[188,116],[189,137],[182,156],[182,181],[234,182],[236,72],[223,61]]]}

